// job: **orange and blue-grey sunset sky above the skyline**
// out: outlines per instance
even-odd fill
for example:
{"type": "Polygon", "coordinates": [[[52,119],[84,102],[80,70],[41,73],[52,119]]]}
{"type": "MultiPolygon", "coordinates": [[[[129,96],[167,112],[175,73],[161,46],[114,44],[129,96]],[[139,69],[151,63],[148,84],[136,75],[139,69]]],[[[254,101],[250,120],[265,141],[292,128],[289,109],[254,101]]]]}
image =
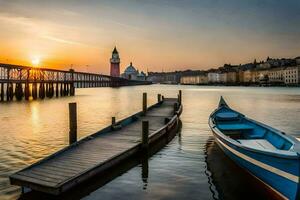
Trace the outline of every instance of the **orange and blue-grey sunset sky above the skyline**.
{"type": "Polygon", "coordinates": [[[172,71],[299,56],[296,0],[87,2],[0,0],[0,62],[108,74],[115,45],[121,71],[131,61],[172,71]]]}

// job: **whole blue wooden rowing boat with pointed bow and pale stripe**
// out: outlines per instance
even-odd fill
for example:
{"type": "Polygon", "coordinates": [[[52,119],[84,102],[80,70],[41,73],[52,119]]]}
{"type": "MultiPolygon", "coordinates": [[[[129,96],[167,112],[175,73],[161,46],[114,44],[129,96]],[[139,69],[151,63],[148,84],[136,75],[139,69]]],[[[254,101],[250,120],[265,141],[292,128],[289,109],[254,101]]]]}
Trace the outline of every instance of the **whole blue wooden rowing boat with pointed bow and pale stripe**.
{"type": "Polygon", "coordinates": [[[223,152],[275,197],[300,199],[300,142],[295,137],[247,118],[223,97],[209,117],[209,126],[223,152]]]}

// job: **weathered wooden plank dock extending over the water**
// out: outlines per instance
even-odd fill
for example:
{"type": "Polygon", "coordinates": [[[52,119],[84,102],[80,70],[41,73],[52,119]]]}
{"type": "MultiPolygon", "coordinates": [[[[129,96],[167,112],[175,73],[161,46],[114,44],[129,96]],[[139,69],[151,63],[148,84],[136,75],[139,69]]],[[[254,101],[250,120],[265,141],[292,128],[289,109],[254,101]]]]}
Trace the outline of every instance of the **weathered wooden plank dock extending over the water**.
{"type": "Polygon", "coordinates": [[[159,97],[159,102],[148,109],[16,172],[10,176],[11,184],[60,195],[129,157],[148,154],[155,143],[164,138],[167,143],[175,136],[182,111],[181,93],[179,96],[163,100],[159,97]],[[143,141],[142,135],[146,137],[143,141]]]}

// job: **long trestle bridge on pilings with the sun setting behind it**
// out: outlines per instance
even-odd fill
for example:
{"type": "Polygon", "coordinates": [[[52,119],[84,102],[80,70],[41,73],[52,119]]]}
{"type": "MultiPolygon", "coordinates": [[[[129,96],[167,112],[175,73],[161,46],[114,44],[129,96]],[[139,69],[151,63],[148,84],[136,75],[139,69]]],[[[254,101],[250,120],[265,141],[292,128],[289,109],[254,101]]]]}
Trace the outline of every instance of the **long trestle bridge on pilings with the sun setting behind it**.
{"type": "Polygon", "coordinates": [[[0,63],[0,101],[74,96],[75,88],[148,85],[103,74],[37,68],[0,63]]]}

